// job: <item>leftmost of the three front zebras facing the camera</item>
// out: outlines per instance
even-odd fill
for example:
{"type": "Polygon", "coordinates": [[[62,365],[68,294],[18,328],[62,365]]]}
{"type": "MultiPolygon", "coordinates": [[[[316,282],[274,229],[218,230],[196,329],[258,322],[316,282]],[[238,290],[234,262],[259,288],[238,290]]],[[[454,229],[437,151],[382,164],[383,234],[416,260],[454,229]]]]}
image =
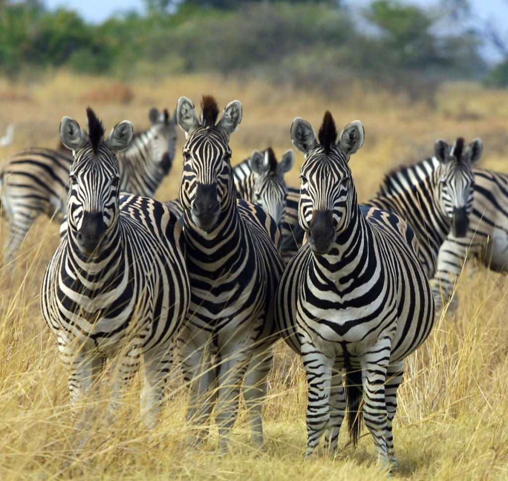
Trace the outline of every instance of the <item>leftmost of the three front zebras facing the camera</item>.
{"type": "MultiPolygon", "coordinates": [[[[116,153],[129,145],[132,124],[117,124],[104,140],[90,108],[87,119],[88,135],[70,117],[60,125],[74,162],[67,229],[43,278],[42,313],[70,373],[73,406],[92,392],[104,361],[115,358],[113,414],[143,359],[141,414],[153,427],[190,300],[182,226],[151,198],[119,195],[116,153]]],[[[85,412],[82,422],[89,418],[85,412]]]]}

